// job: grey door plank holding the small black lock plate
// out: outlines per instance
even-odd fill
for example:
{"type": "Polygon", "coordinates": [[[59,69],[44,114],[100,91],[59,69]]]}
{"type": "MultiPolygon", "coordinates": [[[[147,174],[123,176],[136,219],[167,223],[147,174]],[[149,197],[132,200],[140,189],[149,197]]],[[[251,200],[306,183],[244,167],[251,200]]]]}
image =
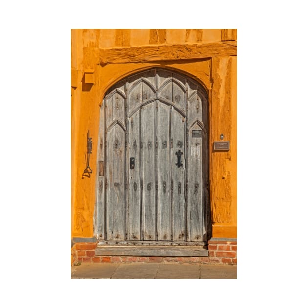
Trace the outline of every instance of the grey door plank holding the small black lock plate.
{"type": "Polygon", "coordinates": [[[128,119],[128,160],[129,177],[129,240],[140,240],[140,110],[128,119]],[[134,158],[134,168],[130,168],[130,158],[134,158]]]}

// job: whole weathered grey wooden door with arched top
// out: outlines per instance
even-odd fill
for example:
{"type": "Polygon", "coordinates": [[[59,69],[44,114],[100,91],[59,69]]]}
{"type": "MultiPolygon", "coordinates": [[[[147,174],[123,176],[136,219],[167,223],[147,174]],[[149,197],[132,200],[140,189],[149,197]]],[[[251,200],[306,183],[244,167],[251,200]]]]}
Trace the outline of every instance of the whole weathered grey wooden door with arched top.
{"type": "Polygon", "coordinates": [[[99,239],[206,241],[207,106],[196,81],[160,68],[110,89],[99,133],[99,239]]]}

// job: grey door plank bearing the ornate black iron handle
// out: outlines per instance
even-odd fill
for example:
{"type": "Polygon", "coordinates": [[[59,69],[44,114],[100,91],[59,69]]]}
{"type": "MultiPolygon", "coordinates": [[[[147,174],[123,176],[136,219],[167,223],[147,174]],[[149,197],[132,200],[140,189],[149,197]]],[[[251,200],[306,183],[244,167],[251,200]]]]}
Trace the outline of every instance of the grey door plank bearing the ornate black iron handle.
{"type": "Polygon", "coordinates": [[[173,181],[172,194],[172,231],[173,241],[185,241],[185,118],[175,109],[171,109],[171,177],[173,181]],[[176,152],[183,152],[182,164],[176,166],[176,152]]]}

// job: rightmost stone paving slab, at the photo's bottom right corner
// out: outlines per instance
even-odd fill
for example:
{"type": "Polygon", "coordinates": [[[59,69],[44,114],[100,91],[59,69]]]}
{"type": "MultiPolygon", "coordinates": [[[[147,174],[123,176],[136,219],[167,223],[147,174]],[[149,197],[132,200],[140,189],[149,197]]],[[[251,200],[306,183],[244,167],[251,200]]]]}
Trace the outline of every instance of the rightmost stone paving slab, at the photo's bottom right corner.
{"type": "Polygon", "coordinates": [[[237,279],[237,265],[200,265],[200,279],[237,279]]]}

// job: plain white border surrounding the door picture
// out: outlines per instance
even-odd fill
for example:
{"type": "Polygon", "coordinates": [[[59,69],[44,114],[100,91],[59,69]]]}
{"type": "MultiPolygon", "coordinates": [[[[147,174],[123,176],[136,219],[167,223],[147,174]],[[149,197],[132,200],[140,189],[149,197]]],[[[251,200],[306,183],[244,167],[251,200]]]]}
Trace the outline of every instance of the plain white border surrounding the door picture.
{"type": "Polygon", "coordinates": [[[307,305],[304,1],[3,3],[2,307],[307,305]],[[70,279],[71,28],[238,29],[237,280],[70,279]]]}

